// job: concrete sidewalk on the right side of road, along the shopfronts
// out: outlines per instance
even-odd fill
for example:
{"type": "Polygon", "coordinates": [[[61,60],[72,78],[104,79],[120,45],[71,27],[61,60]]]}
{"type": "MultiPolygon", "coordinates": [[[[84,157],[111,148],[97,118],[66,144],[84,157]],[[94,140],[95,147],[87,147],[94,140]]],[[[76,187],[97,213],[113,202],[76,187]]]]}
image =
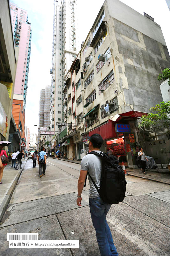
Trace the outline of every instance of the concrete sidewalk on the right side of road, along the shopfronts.
{"type": "MultiPolygon", "coordinates": [[[[58,158],[54,158],[54,159],[58,160],[58,158]]],[[[62,161],[67,161],[75,164],[81,164],[80,161],[76,161],[76,160],[69,160],[69,159],[63,159],[63,158],[59,158],[59,159],[62,161]]],[[[154,181],[162,182],[165,184],[169,184],[168,169],[146,170],[146,174],[144,174],[139,168],[137,169],[126,168],[126,171],[129,175],[132,175],[132,176],[136,176],[146,180],[154,180],[154,181]]]]}

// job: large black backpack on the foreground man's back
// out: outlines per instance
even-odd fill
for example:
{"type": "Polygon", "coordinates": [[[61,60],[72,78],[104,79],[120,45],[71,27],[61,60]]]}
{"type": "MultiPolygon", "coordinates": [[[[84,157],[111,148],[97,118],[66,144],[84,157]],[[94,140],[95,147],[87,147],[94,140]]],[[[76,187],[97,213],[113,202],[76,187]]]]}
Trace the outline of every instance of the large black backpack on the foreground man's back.
{"type": "MultiPolygon", "coordinates": [[[[112,164],[110,159],[104,153],[97,153],[91,151],[89,154],[94,154],[96,156],[102,157],[102,171],[100,178],[100,189],[98,189],[94,180],[90,176],[97,192],[99,193],[103,202],[107,204],[119,204],[125,197],[126,192],[126,179],[124,171],[119,168],[116,164],[112,164]]],[[[88,172],[87,172],[88,174],[88,172]]],[[[87,176],[86,176],[87,179],[87,176]]],[[[85,185],[86,185],[85,179],[85,185]]],[[[84,187],[85,187],[84,185],[84,187]]]]}

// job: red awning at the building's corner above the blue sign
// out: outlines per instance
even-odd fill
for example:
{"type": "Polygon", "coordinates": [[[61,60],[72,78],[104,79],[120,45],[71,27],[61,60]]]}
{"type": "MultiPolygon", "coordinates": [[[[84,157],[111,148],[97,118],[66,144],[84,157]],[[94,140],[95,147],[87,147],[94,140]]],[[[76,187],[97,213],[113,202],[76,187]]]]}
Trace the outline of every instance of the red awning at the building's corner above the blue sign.
{"type": "Polygon", "coordinates": [[[133,118],[133,119],[137,119],[143,115],[147,115],[148,113],[145,112],[139,112],[139,111],[129,111],[129,112],[125,112],[119,115],[115,115],[115,116],[110,116],[109,120],[111,120],[114,123],[118,123],[121,119],[124,118],[133,118]]]}

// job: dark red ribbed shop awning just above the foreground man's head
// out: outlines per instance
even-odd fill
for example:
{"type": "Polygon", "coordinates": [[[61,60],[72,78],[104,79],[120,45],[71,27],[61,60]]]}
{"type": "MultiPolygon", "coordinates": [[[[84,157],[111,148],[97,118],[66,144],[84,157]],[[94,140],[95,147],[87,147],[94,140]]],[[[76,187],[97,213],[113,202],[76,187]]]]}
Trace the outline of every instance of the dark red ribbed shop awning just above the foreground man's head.
{"type": "Polygon", "coordinates": [[[108,123],[103,124],[89,132],[89,136],[92,136],[92,134],[94,133],[100,134],[103,140],[108,140],[117,137],[115,131],[115,124],[111,120],[108,120],[108,123]]]}

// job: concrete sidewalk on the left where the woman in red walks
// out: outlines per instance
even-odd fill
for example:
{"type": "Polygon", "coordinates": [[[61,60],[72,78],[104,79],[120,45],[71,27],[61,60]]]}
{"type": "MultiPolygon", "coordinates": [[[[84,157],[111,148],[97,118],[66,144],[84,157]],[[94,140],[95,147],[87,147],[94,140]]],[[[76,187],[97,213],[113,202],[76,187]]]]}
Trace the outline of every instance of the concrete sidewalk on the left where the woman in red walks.
{"type": "MultiPolygon", "coordinates": [[[[2,184],[0,185],[1,219],[4,215],[6,207],[10,201],[12,193],[17,185],[17,182],[19,180],[21,172],[23,171],[23,169],[26,165],[27,160],[28,160],[28,157],[26,157],[26,159],[23,158],[22,165],[21,165],[22,169],[15,170],[15,168],[11,167],[11,165],[12,165],[11,162],[9,162],[4,168],[2,184]]],[[[19,165],[18,165],[18,167],[19,167],[19,165]]]]}

